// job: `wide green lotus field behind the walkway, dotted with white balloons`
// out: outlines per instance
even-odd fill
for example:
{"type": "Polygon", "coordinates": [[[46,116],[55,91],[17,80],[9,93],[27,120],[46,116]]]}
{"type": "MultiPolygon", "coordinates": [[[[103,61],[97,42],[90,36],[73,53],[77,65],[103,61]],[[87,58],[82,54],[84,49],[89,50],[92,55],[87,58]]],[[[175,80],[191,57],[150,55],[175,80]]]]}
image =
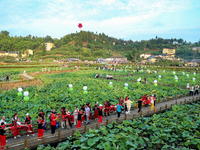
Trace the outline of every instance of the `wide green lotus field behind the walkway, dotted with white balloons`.
{"type": "MultiPolygon", "coordinates": [[[[65,106],[74,111],[75,106],[80,108],[87,102],[94,106],[95,102],[102,104],[106,100],[115,105],[121,96],[126,95],[134,101],[134,107],[136,100],[144,94],[151,95],[155,92],[157,98],[166,98],[188,93],[185,89],[187,82],[194,85],[200,78],[194,72],[157,70],[153,73],[153,68],[143,68],[139,72],[132,67],[127,68],[127,71],[122,69],[123,71],[118,69],[114,72],[92,68],[69,73],[41,74],[39,79],[44,83],[42,86],[22,87],[24,89],[21,94],[17,89],[1,91],[0,114],[11,118],[17,112],[19,117],[24,118],[29,112],[33,120],[36,120],[39,109],[46,112],[52,109],[59,110],[65,106]],[[104,78],[95,79],[96,73],[102,74],[104,78]],[[113,75],[114,80],[105,79],[107,74],[113,75]],[[147,84],[144,84],[145,76],[147,84]],[[139,77],[142,78],[141,83],[137,82],[139,77]],[[25,91],[29,92],[26,97],[24,97],[25,91]]],[[[10,122],[10,119],[6,121],[10,122]]]]}

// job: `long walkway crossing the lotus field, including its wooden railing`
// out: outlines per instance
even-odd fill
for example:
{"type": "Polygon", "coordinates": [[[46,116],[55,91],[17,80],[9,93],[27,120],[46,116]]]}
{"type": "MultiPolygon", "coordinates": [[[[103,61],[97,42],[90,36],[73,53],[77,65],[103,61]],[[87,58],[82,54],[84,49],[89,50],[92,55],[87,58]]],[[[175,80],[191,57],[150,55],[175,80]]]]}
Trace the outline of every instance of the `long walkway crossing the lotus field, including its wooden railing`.
{"type": "MultiPolygon", "coordinates": [[[[82,128],[79,128],[78,130],[80,133],[84,133],[85,131],[88,131],[89,128],[96,129],[100,126],[107,125],[108,123],[111,123],[112,121],[117,121],[118,123],[121,123],[123,120],[132,120],[133,118],[138,118],[143,116],[149,116],[153,115],[154,113],[160,113],[164,112],[167,109],[171,109],[172,105],[174,104],[185,104],[188,102],[194,102],[195,100],[200,100],[199,96],[193,96],[193,97],[180,97],[177,99],[166,99],[165,101],[162,101],[160,103],[156,103],[155,109],[151,110],[151,106],[148,107],[142,107],[142,112],[138,113],[138,108],[131,109],[130,115],[121,114],[121,117],[117,119],[117,114],[112,113],[110,117],[103,117],[103,123],[98,124],[98,120],[92,120],[89,125],[85,125],[82,123],[82,128]]],[[[48,119],[48,118],[47,118],[48,119]]],[[[36,130],[37,131],[37,130],[36,130]]],[[[58,143],[61,141],[65,141],[68,136],[72,136],[74,132],[76,131],[76,126],[73,126],[72,129],[66,130],[59,128],[56,130],[55,136],[51,136],[50,129],[47,129],[44,131],[44,138],[41,141],[37,140],[37,132],[35,132],[35,136],[26,136],[21,135],[20,138],[14,139],[13,137],[7,138],[7,148],[8,149],[24,149],[25,147],[30,148],[36,148],[37,145],[44,144],[47,145],[49,143],[58,143]]]]}

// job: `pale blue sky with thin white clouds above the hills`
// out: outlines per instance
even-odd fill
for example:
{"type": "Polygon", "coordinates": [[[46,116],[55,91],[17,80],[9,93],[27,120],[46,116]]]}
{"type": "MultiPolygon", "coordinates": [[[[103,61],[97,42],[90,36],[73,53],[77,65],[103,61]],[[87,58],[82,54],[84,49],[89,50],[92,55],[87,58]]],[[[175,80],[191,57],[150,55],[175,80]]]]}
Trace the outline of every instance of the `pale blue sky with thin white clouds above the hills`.
{"type": "Polygon", "coordinates": [[[0,0],[0,31],[61,38],[82,30],[125,40],[200,40],[200,0],[0,0]]]}

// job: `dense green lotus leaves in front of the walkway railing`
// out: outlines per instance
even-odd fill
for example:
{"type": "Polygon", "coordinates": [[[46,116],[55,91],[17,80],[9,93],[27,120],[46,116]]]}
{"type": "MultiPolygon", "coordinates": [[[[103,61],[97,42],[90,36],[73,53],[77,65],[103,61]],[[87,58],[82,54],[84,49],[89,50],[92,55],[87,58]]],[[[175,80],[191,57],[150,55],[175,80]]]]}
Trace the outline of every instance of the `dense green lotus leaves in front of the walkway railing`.
{"type": "Polygon", "coordinates": [[[189,150],[200,149],[200,103],[175,105],[171,111],[112,122],[107,127],[90,129],[81,135],[76,131],[73,137],[58,144],[56,148],[40,145],[37,150],[189,150]]]}

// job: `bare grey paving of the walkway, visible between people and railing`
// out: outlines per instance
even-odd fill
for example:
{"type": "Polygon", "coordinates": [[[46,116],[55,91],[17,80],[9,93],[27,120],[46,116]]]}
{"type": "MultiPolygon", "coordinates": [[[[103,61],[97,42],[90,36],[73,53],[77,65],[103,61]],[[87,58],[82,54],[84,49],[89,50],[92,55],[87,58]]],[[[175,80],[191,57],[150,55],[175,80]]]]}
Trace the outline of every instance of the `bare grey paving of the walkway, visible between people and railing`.
{"type": "MultiPolygon", "coordinates": [[[[194,96],[194,97],[189,97],[189,96],[186,96],[186,97],[182,97],[182,98],[178,98],[178,99],[174,99],[174,100],[169,100],[169,101],[166,101],[166,102],[160,102],[160,103],[157,103],[156,105],[155,105],[155,108],[156,108],[156,110],[160,110],[160,107],[166,107],[166,104],[167,104],[167,108],[169,108],[170,106],[171,106],[171,104],[175,104],[176,102],[177,102],[177,104],[180,104],[180,102],[182,101],[184,101],[185,99],[186,100],[189,100],[189,99],[195,99],[196,100],[196,97],[198,97],[198,96],[194,96]]],[[[182,103],[183,104],[183,103],[182,103]]],[[[141,111],[147,111],[147,110],[151,110],[151,107],[150,106],[148,106],[148,107],[143,107],[142,108],[142,110],[141,111]]],[[[133,116],[133,114],[135,114],[135,117],[140,117],[140,113],[138,113],[137,112],[138,111],[138,109],[132,109],[131,110],[131,116],[133,116]]],[[[125,114],[122,114],[121,115],[121,117],[124,117],[125,116],[125,114]]],[[[129,116],[129,115],[128,115],[129,116]]],[[[128,117],[129,118],[129,117],[128,117]]],[[[48,118],[47,118],[48,119],[48,118]]],[[[103,121],[106,121],[107,119],[109,119],[109,120],[112,120],[112,119],[117,119],[117,114],[116,113],[114,113],[114,114],[111,114],[110,115],[110,117],[103,117],[103,121]]],[[[98,120],[92,120],[91,121],[91,123],[90,123],[90,126],[91,125],[96,125],[98,123],[98,120]]],[[[85,126],[85,124],[82,124],[82,127],[83,126],[85,126]]],[[[73,129],[75,129],[76,128],[76,126],[73,126],[72,127],[73,129]]],[[[61,133],[62,133],[62,131],[65,131],[65,132],[67,132],[67,130],[66,129],[57,129],[56,130],[56,132],[58,132],[58,131],[61,131],[61,133]]],[[[44,131],[44,136],[46,136],[46,135],[49,135],[49,134],[51,134],[50,133],[51,131],[50,130],[46,130],[46,131],[44,131]]],[[[15,143],[23,143],[23,145],[25,144],[25,140],[27,139],[27,140],[31,140],[31,139],[33,139],[33,138],[37,138],[37,136],[38,136],[38,134],[37,133],[35,133],[35,136],[33,137],[32,135],[30,135],[29,137],[27,137],[26,135],[23,135],[23,136],[21,136],[20,138],[17,138],[17,139],[14,139],[14,138],[8,138],[7,139],[7,145],[9,145],[9,144],[15,144],[15,143]]],[[[55,138],[55,137],[54,137],[55,138]]],[[[58,137],[57,137],[58,138],[58,137]]],[[[37,143],[38,142],[40,142],[40,141],[37,141],[37,143]]],[[[36,143],[36,144],[37,144],[36,143]]],[[[41,142],[40,143],[38,143],[38,145],[39,144],[41,144],[41,142]]]]}

